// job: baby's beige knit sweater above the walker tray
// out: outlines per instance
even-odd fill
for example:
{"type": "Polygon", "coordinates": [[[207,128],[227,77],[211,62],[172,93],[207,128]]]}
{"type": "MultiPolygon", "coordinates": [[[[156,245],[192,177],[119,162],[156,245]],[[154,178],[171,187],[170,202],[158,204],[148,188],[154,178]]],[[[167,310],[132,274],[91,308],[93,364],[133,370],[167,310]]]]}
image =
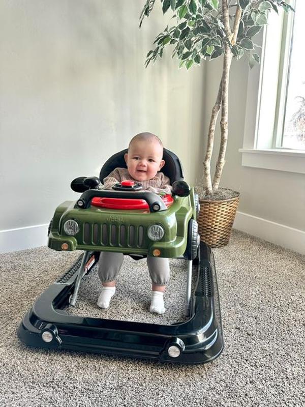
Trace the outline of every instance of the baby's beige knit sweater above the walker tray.
{"type": "Polygon", "coordinates": [[[104,178],[103,189],[112,189],[114,184],[125,180],[131,180],[142,184],[144,191],[155,193],[165,192],[167,194],[171,193],[171,186],[169,185],[170,180],[163,172],[157,172],[156,176],[151,180],[137,181],[129,175],[127,168],[115,168],[110,172],[108,177],[104,178]]]}

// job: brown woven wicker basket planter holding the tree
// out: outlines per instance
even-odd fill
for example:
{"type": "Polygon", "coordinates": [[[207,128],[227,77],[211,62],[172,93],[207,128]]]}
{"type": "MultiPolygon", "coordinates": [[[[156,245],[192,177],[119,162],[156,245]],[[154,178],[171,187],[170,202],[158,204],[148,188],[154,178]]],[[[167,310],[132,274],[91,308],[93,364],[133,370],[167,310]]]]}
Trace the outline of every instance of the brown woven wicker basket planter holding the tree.
{"type": "Polygon", "coordinates": [[[225,200],[199,199],[198,231],[200,240],[208,246],[222,247],[229,243],[239,203],[237,194],[225,200]]]}

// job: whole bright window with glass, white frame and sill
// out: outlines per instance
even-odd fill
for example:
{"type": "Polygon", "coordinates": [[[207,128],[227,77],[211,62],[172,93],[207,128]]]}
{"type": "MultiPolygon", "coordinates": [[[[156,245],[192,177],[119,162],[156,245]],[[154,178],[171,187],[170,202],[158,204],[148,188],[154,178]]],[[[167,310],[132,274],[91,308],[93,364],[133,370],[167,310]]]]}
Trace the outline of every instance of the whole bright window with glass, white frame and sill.
{"type": "Polygon", "coordinates": [[[261,65],[249,73],[239,151],[242,165],[305,173],[305,2],[290,3],[295,13],[270,13],[261,65]]]}

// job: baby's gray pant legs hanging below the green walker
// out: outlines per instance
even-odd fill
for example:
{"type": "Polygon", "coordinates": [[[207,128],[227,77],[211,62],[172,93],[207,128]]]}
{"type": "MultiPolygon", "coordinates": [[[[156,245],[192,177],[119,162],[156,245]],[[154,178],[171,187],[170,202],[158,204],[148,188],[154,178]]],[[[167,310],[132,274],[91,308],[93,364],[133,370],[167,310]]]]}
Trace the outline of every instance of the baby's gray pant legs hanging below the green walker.
{"type": "MultiPolygon", "coordinates": [[[[99,277],[102,283],[116,280],[123,263],[123,259],[123,253],[112,253],[106,251],[100,253],[99,277]]],[[[153,284],[168,284],[170,275],[168,258],[147,256],[147,266],[153,284]]]]}

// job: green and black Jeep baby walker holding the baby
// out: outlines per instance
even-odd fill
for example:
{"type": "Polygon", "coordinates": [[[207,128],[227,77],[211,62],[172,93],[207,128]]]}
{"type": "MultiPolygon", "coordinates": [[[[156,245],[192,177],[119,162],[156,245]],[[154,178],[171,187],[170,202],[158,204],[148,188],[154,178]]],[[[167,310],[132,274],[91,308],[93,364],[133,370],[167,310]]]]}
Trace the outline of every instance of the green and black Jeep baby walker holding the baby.
{"type": "Polygon", "coordinates": [[[56,208],[48,246],[83,253],[25,314],[18,337],[27,345],[49,349],[184,364],[209,362],[221,354],[223,334],[214,257],[198,235],[198,196],[183,180],[178,157],[166,149],[162,171],[171,180],[172,195],[143,192],[141,185],[124,181],[111,191],[97,189],[114,168],[126,168],[125,153],[127,149],[106,161],[100,179],[72,181],[71,188],[80,197],[56,208]],[[184,258],[188,320],[158,325],[68,315],[64,308],[76,304],[82,278],[97,263],[101,251],[121,252],[135,259],[147,255],[184,258]],[[192,266],[198,268],[193,294],[192,266]]]}

